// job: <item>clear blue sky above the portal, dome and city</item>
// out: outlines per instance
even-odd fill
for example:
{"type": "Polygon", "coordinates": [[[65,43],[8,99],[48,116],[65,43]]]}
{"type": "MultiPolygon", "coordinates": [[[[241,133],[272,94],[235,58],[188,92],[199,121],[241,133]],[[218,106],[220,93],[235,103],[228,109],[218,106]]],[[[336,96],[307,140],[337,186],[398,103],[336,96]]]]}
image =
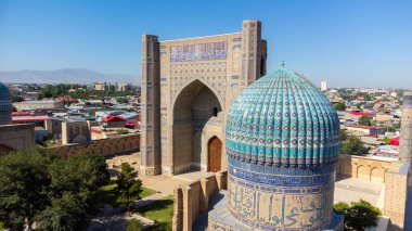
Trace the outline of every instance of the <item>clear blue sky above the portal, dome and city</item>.
{"type": "Polygon", "coordinates": [[[160,40],[262,22],[268,68],[334,87],[412,88],[410,0],[0,0],[0,70],[140,76],[142,34],[160,40]]]}

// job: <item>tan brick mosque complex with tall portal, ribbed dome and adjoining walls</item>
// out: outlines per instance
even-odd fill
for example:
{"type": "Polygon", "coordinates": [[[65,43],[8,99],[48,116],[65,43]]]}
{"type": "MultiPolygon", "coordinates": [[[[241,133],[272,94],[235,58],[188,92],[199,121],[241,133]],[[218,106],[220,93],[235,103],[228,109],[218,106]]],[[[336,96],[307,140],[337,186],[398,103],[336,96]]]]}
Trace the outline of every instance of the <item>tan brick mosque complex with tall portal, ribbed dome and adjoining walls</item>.
{"type": "Polygon", "coordinates": [[[217,36],[143,35],[140,174],[216,172],[175,189],[173,230],[343,230],[333,211],[337,170],[385,182],[384,213],[402,230],[410,126],[399,162],[338,155],[330,101],[284,64],[267,75],[266,61],[259,21],[217,36]]]}

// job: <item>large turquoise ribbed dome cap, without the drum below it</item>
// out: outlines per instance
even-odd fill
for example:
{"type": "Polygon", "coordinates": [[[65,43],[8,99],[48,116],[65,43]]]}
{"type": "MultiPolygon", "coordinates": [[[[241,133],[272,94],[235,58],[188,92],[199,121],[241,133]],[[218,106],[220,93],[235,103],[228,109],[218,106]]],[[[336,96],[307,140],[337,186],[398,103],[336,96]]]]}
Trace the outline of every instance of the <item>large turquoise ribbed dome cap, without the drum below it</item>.
{"type": "Polygon", "coordinates": [[[308,79],[286,68],[247,87],[227,121],[229,163],[318,167],[337,161],[336,111],[308,79]]]}

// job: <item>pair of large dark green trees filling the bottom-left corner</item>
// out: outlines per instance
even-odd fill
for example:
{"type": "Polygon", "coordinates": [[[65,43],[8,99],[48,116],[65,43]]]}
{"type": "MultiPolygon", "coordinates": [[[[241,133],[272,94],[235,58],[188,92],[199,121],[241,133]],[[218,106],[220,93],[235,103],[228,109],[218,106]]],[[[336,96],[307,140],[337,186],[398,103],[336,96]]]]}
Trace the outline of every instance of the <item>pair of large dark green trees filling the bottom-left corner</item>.
{"type": "Polygon", "coordinates": [[[0,157],[0,220],[11,230],[34,222],[38,230],[82,230],[108,179],[103,157],[12,152],[0,157]]]}

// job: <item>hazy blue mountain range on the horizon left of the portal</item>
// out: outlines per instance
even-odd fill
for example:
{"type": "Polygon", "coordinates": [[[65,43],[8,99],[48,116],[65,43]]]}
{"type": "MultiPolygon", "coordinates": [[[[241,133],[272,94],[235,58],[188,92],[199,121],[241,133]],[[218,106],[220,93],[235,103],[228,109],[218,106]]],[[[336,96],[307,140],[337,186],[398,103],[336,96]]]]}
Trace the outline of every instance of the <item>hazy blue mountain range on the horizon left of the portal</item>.
{"type": "Polygon", "coordinates": [[[92,84],[102,82],[132,82],[140,85],[140,77],[123,74],[102,74],[91,69],[64,68],[56,70],[17,70],[0,72],[2,82],[27,82],[27,84],[92,84]]]}

